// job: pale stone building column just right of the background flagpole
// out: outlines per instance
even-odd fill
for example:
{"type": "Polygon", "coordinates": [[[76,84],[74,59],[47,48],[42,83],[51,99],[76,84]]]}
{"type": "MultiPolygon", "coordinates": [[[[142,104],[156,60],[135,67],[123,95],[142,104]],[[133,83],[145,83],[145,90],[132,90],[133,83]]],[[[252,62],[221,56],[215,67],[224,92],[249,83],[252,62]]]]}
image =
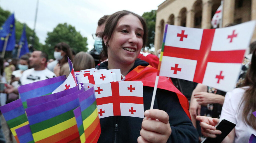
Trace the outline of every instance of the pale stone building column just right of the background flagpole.
{"type": "Polygon", "coordinates": [[[236,1],[234,0],[224,0],[222,27],[234,23],[235,4],[236,1]]]}

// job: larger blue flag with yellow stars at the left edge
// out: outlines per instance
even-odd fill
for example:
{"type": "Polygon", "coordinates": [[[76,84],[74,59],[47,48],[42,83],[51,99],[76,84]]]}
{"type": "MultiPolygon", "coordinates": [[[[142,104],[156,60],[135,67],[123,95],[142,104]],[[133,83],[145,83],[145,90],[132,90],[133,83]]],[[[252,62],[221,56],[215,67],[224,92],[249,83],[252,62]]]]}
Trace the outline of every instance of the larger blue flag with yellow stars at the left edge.
{"type": "Polygon", "coordinates": [[[3,51],[5,38],[9,35],[6,51],[12,51],[15,47],[15,18],[14,14],[9,16],[4,25],[0,28],[0,52],[3,51]]]}

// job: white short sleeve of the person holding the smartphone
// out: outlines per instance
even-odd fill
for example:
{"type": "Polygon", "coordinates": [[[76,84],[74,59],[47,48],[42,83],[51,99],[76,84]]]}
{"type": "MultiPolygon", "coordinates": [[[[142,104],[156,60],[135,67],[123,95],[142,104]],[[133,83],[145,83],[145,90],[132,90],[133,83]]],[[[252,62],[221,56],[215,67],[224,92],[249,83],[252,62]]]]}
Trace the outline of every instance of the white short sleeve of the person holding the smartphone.
{"type": "Polygon", "coordinates": [[[220,120],[226,119],[230,122],[237,124],[236,117],[235,117],[236,110],[232,106],[232,104],[234,103],[232,103],[231,98],[232,98],[232,92],[227,92],[225,96],[225,101],[222,107],[220,120]]]}

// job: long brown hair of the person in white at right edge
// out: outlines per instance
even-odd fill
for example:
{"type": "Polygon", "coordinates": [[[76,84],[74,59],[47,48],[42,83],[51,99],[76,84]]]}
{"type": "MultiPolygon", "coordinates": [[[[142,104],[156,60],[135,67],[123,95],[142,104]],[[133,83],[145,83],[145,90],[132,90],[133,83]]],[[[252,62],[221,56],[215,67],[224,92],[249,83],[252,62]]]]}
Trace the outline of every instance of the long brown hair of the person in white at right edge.
{"type": "Polygon", "coordinates": [[[256,129],[256,118],[252,116],[252,112],[256,111],[256,49],[252,53],[251,66],[246,74],[246,78],[243,86],[249,86],[244,92],[242,102],[240,104],[244,105],[242,111],[243,120],[252,128],[256,129]],[[249,116],[248,116],[249,115],[249,116]]]}

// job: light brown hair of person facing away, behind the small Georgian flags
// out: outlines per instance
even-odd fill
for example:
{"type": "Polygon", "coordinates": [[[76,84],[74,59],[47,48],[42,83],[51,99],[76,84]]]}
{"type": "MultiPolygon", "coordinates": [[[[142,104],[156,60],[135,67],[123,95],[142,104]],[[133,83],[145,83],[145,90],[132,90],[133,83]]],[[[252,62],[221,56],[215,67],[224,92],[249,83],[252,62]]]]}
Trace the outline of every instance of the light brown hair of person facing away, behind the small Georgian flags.
{"type": "Polygon", "coordinates": [[[79,71],[79,70],[94,68],[95,62],[93,57],[90,54],[86,52],[79,52],[78,54],[76,54],[74,58],[73,66],[75,71],[79,71]]]}

